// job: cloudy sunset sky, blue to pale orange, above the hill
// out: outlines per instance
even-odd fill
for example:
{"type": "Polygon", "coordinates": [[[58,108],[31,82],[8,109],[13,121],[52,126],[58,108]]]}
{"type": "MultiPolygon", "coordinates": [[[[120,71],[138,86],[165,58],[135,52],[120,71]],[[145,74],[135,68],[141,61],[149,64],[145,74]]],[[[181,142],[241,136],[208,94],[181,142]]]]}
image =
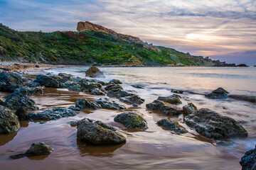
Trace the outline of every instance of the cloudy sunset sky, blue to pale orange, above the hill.
{"type": "Polygon", "coordinates": [[[14,30],[76,30],[79,21],[191,55],[256,65],[256,0],[0,0],[14,30]]]}

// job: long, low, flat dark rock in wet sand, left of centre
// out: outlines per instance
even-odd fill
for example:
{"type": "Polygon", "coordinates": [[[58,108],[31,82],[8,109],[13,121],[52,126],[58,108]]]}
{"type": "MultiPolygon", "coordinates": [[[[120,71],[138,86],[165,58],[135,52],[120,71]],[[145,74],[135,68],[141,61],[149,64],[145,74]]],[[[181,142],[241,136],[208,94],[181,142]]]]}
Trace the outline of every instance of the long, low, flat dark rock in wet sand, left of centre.
{"type": "Polygon", "coordinates": [[[28,120],[57,120],[74,115],[78,115],[78,112],[67,108],[53,108],[41,113],[28,113],[28,120]]]}

